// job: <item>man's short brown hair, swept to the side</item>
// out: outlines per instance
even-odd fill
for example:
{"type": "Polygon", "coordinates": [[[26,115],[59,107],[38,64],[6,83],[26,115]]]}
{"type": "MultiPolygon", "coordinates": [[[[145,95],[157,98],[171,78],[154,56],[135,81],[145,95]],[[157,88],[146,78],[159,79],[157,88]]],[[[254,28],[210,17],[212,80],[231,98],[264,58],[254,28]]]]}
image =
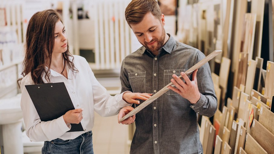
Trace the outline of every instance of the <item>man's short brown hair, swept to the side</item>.
{"type": "Polygon", "coordinates": [[[126,7],[126,21],[131,25],[139,24],[147,13],[161,20],[161,10],[156,0],[132,0],[126,7]]]}

